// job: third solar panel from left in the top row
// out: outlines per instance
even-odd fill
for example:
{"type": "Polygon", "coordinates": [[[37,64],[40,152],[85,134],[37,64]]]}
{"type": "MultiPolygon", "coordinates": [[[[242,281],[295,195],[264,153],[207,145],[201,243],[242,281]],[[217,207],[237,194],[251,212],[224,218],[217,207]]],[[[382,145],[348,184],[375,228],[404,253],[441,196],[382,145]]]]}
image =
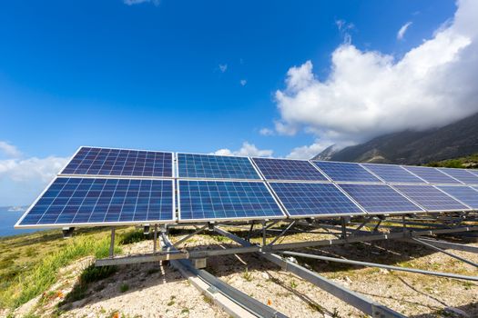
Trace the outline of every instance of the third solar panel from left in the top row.
{"type": "Polygon", "coordinates": [[[252,160],[268,180],[327,180],[323,174],[320,174],[319,170],[306,160],[267,158],[252,158],[252,160]]]}

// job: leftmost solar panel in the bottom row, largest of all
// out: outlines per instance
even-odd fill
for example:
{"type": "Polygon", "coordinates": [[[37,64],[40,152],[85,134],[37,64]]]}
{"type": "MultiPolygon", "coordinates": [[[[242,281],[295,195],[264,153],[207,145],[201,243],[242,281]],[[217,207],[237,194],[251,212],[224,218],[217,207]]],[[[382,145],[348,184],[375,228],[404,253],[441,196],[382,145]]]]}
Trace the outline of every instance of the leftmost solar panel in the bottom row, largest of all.
{"type": "Polygon", "coordinates": [[[173,221],[173,181],[58,177],[19,227],[173,221]]]}

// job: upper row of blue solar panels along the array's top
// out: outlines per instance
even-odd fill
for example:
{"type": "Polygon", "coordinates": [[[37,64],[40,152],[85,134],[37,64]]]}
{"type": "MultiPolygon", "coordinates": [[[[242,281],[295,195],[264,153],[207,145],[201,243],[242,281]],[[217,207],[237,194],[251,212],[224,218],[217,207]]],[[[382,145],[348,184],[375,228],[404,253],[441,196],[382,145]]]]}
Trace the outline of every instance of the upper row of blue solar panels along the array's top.
{"type": "Polygon", "coordinates": [[[473,184],[478,171],[81,147],[61,174],[390,184],[473,184]],[[255,169],[254,164],[259,169],[255,169]],[[176,170],[176,174],[174,174],[176,170]]]}

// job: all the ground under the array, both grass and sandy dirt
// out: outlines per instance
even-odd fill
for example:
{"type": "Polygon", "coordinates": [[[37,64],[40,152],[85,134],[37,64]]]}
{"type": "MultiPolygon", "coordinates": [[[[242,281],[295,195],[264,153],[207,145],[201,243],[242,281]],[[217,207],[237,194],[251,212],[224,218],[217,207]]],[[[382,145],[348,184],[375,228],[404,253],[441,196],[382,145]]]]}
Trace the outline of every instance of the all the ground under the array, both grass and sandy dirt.
{"type": "MultiPolygon", "coordinates": [[[[244,230],[229,230],[246,236],[244,230]]],[[[1,240],[0,307],[3,309],[0,309],[0,316],[228,316],[201,295],[188,280],[169,268],[168,263],[103,269],[90,266],[94,255],[100,257],[107,254],[107,231],[83,231],[67,240],[62,239],[58,231],[1,240]],[[46,266],[53,269],[45,271],[46,266]]],[[[174,230],[171,238],[178,240],[190,231],[174,230]]],[[[152,249],[152,242],[144,240],[143,234],[134,228],[123,228],[117,233],[118,253],[145,253],[152,249]]],[[[331,238],[331,235],[290,234],[280,241],[286,243],[326,237],[331,238]]],[[[271,239],[268,238],[268,241],[271,239]]],[[[255,237],[252,241],[260,240],[255,237]]],[[[478,243],[473,245],[478,246],[478,243]]],[[[198,250],[236,244],[222,236],[205,233],[188,240],[184,246],[198,250]]],[[[411,243],[353,243],[302,252],[432,271],[477,274],[471,265],[411,243]]],[[[478,262],[477,254],[453,253],[478,262]]],[[[478,316],[477,283],[310,259],[297,259],[297,262],[407,316],[460,316],[460,313],[478,316]]],[[[207,270],[292,317],[364,316],[349,304],[293,274],[281,271],[255,254],[212,257],[208,259],[207,270]]]]}

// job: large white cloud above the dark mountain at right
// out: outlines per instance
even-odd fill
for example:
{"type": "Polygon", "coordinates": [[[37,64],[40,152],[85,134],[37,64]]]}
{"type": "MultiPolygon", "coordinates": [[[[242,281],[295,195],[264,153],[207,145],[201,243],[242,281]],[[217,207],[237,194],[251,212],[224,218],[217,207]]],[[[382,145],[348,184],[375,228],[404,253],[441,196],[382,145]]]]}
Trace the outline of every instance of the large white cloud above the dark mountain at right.
{"type": "MultiPolygon", "coordinates": [[[[478,112],[478,2],[463,0],[451,22],[401,58],[342,44],[320,80],[312,63],[291,67],[276,92],[278,134],[305,129],[322,147],[405,129],[450,124],[478,112]]],[[[317,145],[298,148],[320,151],[317,145]]]]}

